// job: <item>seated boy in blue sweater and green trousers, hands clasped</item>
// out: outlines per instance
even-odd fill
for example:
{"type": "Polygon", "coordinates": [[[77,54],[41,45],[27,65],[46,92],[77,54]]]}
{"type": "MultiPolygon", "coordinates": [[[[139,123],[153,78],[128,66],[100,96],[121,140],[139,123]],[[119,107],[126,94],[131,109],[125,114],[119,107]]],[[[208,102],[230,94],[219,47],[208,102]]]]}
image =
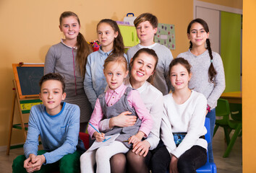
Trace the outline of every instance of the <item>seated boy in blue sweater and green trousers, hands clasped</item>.
{"type": "Polygon", "coordinates": [[[66,93],[60,74],[46,74],[39,85],[43,105],[35,105],[30,110],[25,155],[14,159],[12,170],[80,172],[80,155],[84,149],[82,141],[78,140],[80,108],[62,102],[66,93]],[[42,151],[38,151],[38,136],[43,144],[42,151]]]}

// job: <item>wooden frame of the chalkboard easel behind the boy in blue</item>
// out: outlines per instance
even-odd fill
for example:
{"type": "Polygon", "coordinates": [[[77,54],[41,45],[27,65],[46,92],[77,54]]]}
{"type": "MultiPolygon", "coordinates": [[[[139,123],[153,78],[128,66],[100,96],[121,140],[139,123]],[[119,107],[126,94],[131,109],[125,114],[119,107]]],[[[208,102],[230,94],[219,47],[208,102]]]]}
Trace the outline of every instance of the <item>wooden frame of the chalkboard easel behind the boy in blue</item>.
{"type": "MultiPolygon", "coordinates": [[[[43,65],[40,65],[43,66],[43,65]]],[[[17,64],[13,64],[13,68],[17,67],[17,64]]],[[[27,138],[27,123],[24,122],[23,115],[30,113],[30,109],[33,105],[42,104],[39,99],[39,93],[38,94],[31,94],[24,96],[21,93],[21,87],[20,87],[20,81],[18,79],[17,75],[17,69],[14,70],[14,76],[15,79],[13,80],[14,88],[13,90],[13,96],[12,96],[12,112],[10,116],[10,123],[9,123],[9,139],[7,144],[7,155],[9,155],[10,146],[11,146],[11,140],[12,140],[12,129],[20,129],[22,130],[22,135],[24,136],[24,141],[27,138]],[[20,123],[19,124],[13,124],[14,120],[14,112],[15,112],[15,105],[18,106],[18,115],[20,117],[20,123]]]]}

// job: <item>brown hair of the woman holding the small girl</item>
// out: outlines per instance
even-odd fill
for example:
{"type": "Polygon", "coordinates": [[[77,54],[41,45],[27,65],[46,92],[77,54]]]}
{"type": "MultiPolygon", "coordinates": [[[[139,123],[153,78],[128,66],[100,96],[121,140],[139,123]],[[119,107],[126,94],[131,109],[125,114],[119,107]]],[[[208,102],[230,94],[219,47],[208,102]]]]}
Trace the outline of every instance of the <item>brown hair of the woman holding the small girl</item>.
{"type": "MultiPolygon", "coordinates": [[[[149,56],[153,56],[153,58],[155,58],[155,66],[154,66],[154,72],[155,72],[155,68],[156,68],[156,66],[157,66],[157,64],[158,64],[158,56],[156,55],[155,50],[149,49],[149,48],[142,48],[142,49],[138,50],[137,53],[135,53],[135,56],[133,56],[133,58],[131,59],[129,71],[132,70],[133,62],[135,61],[135,59],[136,59],[137,57],[140,56],[140,53],[147,53],[149,56]]],[[[147,79],[147,81],[148,81],[150,84],[153,84],[154,76],[155,76],[155,73],[154,73],[153,75],[151,75],[151,76],[147,79]]]]}

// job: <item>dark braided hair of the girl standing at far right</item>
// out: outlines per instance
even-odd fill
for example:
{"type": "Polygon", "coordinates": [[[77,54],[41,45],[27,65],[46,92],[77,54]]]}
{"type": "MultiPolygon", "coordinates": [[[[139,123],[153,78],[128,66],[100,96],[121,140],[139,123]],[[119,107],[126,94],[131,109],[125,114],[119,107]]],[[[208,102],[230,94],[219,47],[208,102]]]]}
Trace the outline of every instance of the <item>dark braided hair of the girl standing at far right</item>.
{"type": "MultiPolygon", "coordinates": [[[[197,18],[197,19],[193,19],[189,23],[189,25],[187,26],[187,34],[190,34],[190,28],[192,27],[192,25],[194,23],[199,23],[200,25],[202,25],[202,27],[204,28],[205,32],[209,33],[209,27],[208,27],[207,23],[203,19],[197,18]]],[[[189,49],[192,49],[193,48],[192,42],[190,41],[189,43],[190,43],[189,49]]],[[[209,70],[208,70],[208,75],[209,75],[210,81],[213,82],[214,81],[214,77],[217,74],[217,71],[216,71],[216,69],[213,66],[213,53],[212,53],[212,49],[210,48],[210,40],[209,40],[209,38],[206,39],[206,45],[207,45],[207,49],[208,49],[209,56],[210,56],[210,67],[209,67],[209,70]]]]}

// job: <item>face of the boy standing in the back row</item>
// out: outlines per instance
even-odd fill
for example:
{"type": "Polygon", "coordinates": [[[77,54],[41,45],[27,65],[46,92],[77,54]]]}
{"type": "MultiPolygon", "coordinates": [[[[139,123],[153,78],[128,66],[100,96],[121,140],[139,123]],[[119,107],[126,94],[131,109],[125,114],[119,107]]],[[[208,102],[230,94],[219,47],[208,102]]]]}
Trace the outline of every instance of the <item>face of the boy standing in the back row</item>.
{"type": "Polygon", "coordinates": [[[158,30],[157,27],[153,28],[149,21],[140,22],[136,27],[137,36],[140,39],[141,45],[153,45],[154,43],[154,35],[158,30]]]}

